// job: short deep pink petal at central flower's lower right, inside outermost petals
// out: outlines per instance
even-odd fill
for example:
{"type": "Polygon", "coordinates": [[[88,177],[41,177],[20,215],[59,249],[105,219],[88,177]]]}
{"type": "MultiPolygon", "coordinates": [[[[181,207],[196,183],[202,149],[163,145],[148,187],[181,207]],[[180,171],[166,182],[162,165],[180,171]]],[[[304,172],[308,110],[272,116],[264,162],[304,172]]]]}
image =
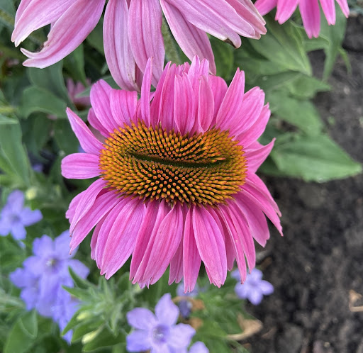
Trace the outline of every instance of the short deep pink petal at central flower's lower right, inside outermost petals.
{"type": "Polygon", "coordinates": [[[269,227],[266,217],[256,203],[250,201],[249,198],[240,192],[235,195],[236,205],[240,208],[251,230],[252,237],[264,247],[269,239],[269,227]]]}

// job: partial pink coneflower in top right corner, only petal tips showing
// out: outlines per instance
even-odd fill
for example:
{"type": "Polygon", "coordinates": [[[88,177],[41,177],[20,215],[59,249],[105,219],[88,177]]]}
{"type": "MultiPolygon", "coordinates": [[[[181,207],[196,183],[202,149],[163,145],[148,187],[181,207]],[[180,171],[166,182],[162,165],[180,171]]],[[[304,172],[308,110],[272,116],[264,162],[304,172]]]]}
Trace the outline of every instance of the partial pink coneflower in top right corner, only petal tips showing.
{"type": "MultiPolygon", "coordinates": [[[[337,0],[337,3],[345,16],[348,17],[347,0],[337,0]]],[[[320,5],[328,24],[335,25],[335,0],[320,0],[320,5]]],[[[262,15],[266,15],[277,7],[276,20],[280,24],[286,22],[298,6],[308,38],[318,38],[319,36],[320,8],[318,0],[257,0],[255,6],[262,15]]]]}

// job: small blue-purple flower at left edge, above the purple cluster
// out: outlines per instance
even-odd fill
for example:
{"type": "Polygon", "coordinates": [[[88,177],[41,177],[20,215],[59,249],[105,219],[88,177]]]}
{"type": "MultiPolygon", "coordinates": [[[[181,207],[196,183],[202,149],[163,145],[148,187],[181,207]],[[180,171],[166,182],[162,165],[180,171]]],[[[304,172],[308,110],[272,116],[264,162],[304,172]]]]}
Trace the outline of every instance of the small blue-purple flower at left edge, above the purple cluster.
{"type": "Polygon", "coordinates": [[[11,233],[16,240],[26,237],[26,228],[39,222],[43,218],[39,210],[31,211],[24,207],[24,194],[20,190],[13,191],[0,215],[0,235],[3,237],[11,233]]]}

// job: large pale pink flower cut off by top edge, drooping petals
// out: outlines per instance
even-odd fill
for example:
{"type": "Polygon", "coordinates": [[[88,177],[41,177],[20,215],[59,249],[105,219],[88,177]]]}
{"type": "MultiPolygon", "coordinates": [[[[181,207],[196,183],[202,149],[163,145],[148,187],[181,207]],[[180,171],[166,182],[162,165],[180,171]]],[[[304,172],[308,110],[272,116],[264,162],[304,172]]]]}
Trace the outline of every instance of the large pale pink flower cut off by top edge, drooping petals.
{"type": "MultiPolygon", "coordinates": [[[[21,0],[11,40],[18,46],[34,30],[51,24],[48,40],[39,52],[21,51],[24,65],[48,67],[76,49],[99,22],[106,0],[21,0]]],[[[104,16],[104,49],[113,79],[123,89],[140,89],[147,59],[153,57],[152,82],[164,67],[162,13],[174,38],[189,59],[211,62],[213,52],[206,33],[240,47],[240,35],[259,38],[264,20],[251,0],[109,0],[104,16]]]]}

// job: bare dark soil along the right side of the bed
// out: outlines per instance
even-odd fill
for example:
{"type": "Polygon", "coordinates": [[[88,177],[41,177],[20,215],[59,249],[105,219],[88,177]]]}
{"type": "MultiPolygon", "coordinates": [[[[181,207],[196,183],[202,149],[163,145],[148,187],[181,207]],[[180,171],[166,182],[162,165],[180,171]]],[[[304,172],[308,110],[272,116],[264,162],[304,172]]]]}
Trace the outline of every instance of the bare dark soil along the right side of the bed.
{"type": "MultiPolygon", "coordinates": [[[[363,18],[350,18],[345,49],[347,74],[337,61],[333,90],[315,103],[332,138],[363,162],[363,18]],[[332,118],[334,117],[334,123],[332,118]]],[[[323,53],[313,55],[320,70],[323,53]]],[[[325,184],[264,178],[283,214],[284,237],[272,232],[264,279],[274,294],[247,310],[262,321],[247,340],[254,353],[363,353],[363,175],[325,184]],[[350,306],[351,301],[351,306],[350,306]]]]}

